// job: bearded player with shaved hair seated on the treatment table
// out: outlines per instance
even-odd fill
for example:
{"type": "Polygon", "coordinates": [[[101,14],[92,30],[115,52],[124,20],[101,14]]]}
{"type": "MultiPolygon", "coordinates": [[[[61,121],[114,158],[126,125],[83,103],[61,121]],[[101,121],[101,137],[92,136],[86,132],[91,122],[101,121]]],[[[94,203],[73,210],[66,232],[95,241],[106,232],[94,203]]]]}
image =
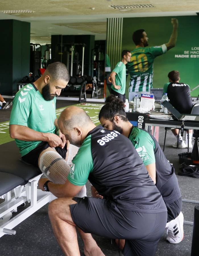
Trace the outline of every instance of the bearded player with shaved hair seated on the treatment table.
{"type": "Polygon", "coordinates": [[[56,97],[66,87],[69,72],[61,62],[50,64],[43,75],[21,88],[13,100],[9,133],[22,159],[39,166],[43,152],[56,150],[67,159],[65,136],[60,132],[55,113],[56,97]]]}

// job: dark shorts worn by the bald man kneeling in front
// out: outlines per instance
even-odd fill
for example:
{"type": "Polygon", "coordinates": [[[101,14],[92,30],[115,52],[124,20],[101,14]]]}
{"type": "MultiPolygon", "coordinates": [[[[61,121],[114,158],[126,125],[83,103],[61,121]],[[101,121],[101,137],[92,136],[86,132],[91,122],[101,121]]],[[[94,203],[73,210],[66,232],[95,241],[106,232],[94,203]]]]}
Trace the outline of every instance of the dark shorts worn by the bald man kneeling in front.
{"type": "Polygon", "coordinates": [[[124,255],[152,256],[167,222],[167,212],[121,210],[114,201],[74,197],[70,205],[74,224],[83,232],[111,239],[125,239],[124,255]]]}

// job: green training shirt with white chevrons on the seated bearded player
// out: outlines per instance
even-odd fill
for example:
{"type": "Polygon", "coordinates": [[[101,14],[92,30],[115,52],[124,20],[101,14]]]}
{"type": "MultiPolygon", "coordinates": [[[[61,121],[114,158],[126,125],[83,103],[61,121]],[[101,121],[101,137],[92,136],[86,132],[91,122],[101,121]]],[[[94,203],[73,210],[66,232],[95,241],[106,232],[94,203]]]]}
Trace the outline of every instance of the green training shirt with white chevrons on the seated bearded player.
{"type": "MultiPolygon", "coordinates": [[[[54,121],[57,118],[55,103],[56,97],[46,101],[33,83],[27,84],[14,97],[10,125],[23,125],[34,131],[54,133],[54,121]]],[[[41,141],[21,141],[18,139],[15,141],[21,156],[28,154],[41,143],[41,141]]]]}

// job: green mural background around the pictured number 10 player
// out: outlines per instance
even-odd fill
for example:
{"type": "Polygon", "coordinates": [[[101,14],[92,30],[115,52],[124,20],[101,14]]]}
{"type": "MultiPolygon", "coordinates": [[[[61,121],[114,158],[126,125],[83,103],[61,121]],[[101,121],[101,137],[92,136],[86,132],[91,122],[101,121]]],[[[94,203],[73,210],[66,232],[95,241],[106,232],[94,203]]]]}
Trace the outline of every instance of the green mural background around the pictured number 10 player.
{"type": "MultiPolygon", "coordinates": [[[[167,53],[156,57],[154,61],[154,88],[163,88],[168,81],[168,73],[172,70],[180,72],[181,82],[194,88],[199,84],[199,17],[145,17],[145,18],[123,18],[122,49],[132,51],[135,48],[132,41],[132,33],[138,29],[144,29],[149,38],[149,46],[159,46],[169,41],[173,26],[171,18],[179,21],[178,38],[176,46],[167,53]],[[192,48],[198,47],[196,54],[191,53],[192,48]],[[184,51],[189,51],[185,54],[184,51]],[[181,55],[181,57],[177,57],[181,55]],[[189,55],[188,58],[182,55],[189,55]],[[196,55],[196,58],[191,58],[196,55]]],[[[129,76],[127,79],[126,93],[128,96],[129,76]]],[[[192,96],[198,96],[199,88],[191,92],[192,96]]]]}

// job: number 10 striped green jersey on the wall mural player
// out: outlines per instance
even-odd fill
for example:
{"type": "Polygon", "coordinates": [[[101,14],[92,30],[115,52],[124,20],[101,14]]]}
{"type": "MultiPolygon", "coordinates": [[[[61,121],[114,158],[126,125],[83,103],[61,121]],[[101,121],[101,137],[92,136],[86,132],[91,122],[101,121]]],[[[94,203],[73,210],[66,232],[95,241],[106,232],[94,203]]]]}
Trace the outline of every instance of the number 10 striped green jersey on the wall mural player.
{"type": "Polygon", "coordinates": [[[167,52],[165,44],[154,47],[138,47],[131,51],[131,62],[127,63],[130,74],[129,92],[149,92],[153,87],[154,59],[167,52]]]}

